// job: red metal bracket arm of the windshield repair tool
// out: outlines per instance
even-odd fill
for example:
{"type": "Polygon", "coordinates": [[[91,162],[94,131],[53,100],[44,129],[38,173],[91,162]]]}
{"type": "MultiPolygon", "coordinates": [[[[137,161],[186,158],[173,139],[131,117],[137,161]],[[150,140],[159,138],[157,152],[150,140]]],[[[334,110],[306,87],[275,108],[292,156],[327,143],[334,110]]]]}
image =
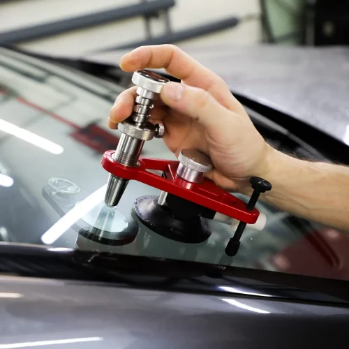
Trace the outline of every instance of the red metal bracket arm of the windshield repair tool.
{"type": "Polygon", "coordinates": [[[253,224],[257,221],[259,216],[257,209],[248,211],[244,201],[218,188],[213,181],[205,179],[202,183],[195,184],[177,177],[178,161],[141,157],[138,167],[128,167],[114,161],[112,154],[114,154],[112,150],[105,152],[102,158],[102,166],[114,176],[140,181],[245,223],[253,224]],[[149,172],[149,170],[165,172],[167,178],[160,177],[158,174],[149,172]]]}

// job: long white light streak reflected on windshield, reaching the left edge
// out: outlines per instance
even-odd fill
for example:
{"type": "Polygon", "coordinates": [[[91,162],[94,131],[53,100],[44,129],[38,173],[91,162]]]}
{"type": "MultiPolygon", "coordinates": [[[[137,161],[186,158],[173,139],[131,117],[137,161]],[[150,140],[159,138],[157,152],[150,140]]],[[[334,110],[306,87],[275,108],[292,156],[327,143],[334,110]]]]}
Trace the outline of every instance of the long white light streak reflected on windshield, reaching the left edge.
{"type": "Polygon", "coordinates": [[[25,140],[30,144],[36,145],[41,149],[50,151],[52,154],[61,154],[63,153],[63,147],[60,145],[47,140],[46,138],[40,137],[40,135],[36,135],[30,131],[24,130],[24,128],[20,128],[10,122],[0,119],[0,131],[9,133],[10,135],[14,135],[21,140],[25,140]]]}

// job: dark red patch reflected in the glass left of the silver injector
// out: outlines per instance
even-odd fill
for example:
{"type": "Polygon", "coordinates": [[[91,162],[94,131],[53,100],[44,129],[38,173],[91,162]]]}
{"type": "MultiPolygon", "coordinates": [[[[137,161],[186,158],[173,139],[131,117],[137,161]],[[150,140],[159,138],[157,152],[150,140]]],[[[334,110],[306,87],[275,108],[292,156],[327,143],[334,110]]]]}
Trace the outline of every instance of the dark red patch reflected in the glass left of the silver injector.
{"type": "Polygon", "coordinates": [[[89,124],[70,134],[75,140],[103,154],[108,149],[116,149],[119,138],[103,130],[96,124],[89,124]]]}

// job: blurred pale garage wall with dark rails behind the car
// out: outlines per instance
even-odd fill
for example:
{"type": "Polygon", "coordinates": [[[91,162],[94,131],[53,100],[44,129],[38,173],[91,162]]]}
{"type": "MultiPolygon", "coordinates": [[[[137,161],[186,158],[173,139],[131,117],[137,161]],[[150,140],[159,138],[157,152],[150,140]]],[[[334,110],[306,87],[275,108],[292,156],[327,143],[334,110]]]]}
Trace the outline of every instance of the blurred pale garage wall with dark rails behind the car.
{"type": "MultiPolygon", "coordinates": [[[[0,45],[82,54],[147,43],[348,41],[348,1],[0,0],[0,45]]],[[[348,25],[349,27],[349,25],[348,25]]]]}

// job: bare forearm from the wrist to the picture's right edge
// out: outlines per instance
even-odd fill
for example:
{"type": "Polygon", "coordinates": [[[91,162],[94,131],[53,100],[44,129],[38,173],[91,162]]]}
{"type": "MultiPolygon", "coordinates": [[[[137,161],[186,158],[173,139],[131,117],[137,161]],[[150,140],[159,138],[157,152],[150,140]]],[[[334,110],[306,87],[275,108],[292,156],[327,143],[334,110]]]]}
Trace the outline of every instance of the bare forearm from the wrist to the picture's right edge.
{"type": "Polygon", "coordinates": [[[335,228],[349,230],[349,168],[272,152],[266,202],[335,228]]]}

